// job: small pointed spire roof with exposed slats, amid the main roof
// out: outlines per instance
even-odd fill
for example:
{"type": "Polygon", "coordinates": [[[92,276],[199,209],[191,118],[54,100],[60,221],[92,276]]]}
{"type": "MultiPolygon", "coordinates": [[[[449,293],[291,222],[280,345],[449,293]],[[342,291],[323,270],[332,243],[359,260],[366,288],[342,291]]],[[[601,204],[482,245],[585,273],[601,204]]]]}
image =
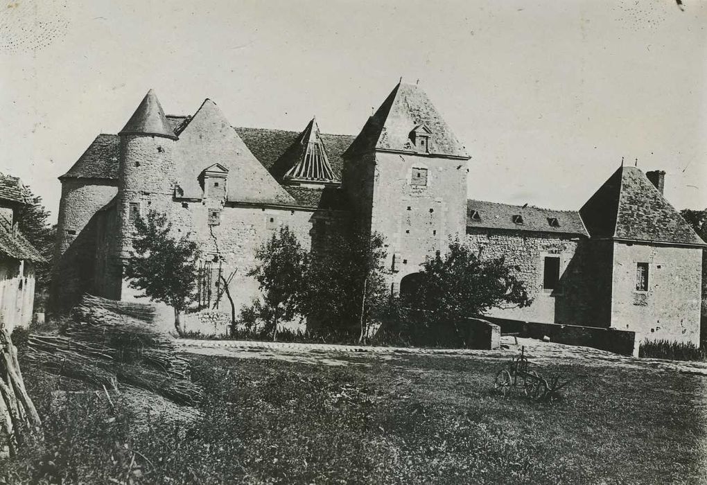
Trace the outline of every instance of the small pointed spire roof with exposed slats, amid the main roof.
{"type": "Polygon", "coordinates": [[[312,118],[293,145],[297,154],[294,165],[285,173],[285,180],[334,182],[334,172],[329,165],[327,149],[315,118],[312,118]]]}

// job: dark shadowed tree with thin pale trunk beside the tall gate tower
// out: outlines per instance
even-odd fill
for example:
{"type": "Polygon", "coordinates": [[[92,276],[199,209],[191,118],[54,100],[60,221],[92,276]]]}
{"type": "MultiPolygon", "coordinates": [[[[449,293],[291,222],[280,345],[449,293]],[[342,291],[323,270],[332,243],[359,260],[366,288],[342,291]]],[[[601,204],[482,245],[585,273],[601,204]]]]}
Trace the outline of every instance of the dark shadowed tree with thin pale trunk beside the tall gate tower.
{"type": "Polygon", "coordinates": [[[308,324],[323,331],[358,332],[365,341],[370,324],[390,297],[383,236],[334,233],[312,255],[302,308],[308,324]]]}

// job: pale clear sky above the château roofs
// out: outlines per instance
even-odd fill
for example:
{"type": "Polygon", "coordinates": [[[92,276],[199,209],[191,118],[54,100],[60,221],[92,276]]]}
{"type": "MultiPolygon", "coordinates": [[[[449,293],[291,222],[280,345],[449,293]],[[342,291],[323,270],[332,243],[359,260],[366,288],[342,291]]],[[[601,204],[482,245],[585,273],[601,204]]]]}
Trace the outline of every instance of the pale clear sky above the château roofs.
{"type": "Polygon", "coordinates": [[[56,217],[57,177],[150,88],[168,114],[358,134],[402,76],[472,156],[469,198],[579,209],[624,158],[704,209],[707,1],[682,3],[6,0],[0,172],[56,217]]]}

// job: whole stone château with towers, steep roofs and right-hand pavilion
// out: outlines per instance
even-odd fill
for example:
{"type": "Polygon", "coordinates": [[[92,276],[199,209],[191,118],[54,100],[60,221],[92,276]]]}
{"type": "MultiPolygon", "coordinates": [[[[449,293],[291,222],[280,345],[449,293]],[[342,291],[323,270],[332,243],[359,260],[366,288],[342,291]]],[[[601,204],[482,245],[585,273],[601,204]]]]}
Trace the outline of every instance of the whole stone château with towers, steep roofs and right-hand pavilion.
{"type": "Polygon", "coordinates": [[[665,173],[621,167],[580,211],[467,197],[469,154],[415,85],[399,83],[357,136],[233,125],[211,100],[165,115],[151,90],[119,134],[100,134],[60,177],[55,308],[84,291],[133,298],[121,276],[132,223],[154,209],[204,250],[203,308],[236,271],[237,305],[256,248],[286,225],[305,247],[351,224],[385,237],[392,293],[450,238],[517,265],[534,303],[516,320],[630,329],[697,342],[702,242],[662,195],[665,173]]]}

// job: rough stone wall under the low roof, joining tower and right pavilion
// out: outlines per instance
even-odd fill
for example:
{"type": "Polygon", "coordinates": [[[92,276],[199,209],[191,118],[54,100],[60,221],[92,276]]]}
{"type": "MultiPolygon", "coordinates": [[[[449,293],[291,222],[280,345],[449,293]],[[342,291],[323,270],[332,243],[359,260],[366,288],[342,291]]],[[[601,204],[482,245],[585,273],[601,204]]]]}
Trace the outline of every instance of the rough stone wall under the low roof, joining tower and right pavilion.
{"type": "Polygon", "coordinates": [[[467,228],[466,242],[483,258],[505,257],[518,267],[533,303],[526,308],[491,309],[489,315],[546,323],[586,324],[591,305],[585,265],[586,240],[571,235],[467,228]],[[544,257],[559,256],[558,288],[543,288],[544,257]]]}

